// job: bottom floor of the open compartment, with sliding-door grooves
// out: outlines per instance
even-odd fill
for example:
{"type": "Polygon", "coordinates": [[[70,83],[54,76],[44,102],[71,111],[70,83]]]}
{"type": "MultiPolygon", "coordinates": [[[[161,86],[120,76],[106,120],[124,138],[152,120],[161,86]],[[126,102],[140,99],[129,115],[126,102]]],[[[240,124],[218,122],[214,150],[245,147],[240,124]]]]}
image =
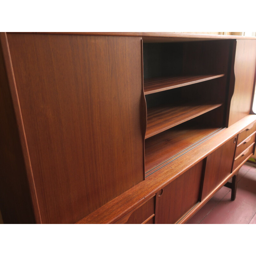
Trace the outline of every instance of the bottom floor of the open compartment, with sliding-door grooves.
{"type": "Polygon", "coordinates": [[[185,123],[145,140],[146,176],[209,139],[220,130],[222,128],[190,127],[185,123]]]}

